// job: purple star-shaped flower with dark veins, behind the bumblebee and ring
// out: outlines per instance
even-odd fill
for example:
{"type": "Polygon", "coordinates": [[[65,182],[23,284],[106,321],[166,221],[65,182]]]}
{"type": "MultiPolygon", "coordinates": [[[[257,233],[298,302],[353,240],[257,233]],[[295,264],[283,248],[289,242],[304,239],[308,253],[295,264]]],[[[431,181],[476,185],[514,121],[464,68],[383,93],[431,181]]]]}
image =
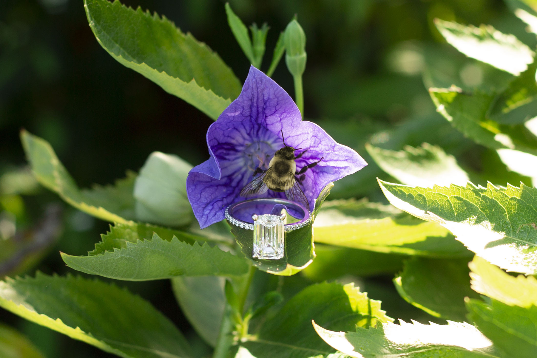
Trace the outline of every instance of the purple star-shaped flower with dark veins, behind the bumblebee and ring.
{"type": "MultiPolygon", "coordinates": [[[[304,172],[299,186],[313,210],[315,199],[332,181],[352,174],[367,163],[357,152],[336,143],[315,123],[302,121],[287,92],[255,67],[242,92],[207,130],[211,157],[195,166],[186,179],[188,201],[201,228],[224,219],[224,210],[237,201],[257,167],[267,169],[274,153],[284,147],[302,148],[296,171],[322,160],[304,172]]],[[[263,198],[285,198],[272,190],[263,198]]]]}

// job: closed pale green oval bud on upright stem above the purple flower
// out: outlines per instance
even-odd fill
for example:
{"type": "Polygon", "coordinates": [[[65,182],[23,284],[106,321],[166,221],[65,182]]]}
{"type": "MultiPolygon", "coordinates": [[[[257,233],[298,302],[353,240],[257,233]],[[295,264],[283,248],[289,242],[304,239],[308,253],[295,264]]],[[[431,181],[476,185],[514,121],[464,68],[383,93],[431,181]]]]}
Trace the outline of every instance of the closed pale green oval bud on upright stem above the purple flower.
{"type": "Polygon", "coordinates": [[[306,69],[306,34],[296,20],[285,29],[285,63],[293,76],[301,76],[306,69]]]}

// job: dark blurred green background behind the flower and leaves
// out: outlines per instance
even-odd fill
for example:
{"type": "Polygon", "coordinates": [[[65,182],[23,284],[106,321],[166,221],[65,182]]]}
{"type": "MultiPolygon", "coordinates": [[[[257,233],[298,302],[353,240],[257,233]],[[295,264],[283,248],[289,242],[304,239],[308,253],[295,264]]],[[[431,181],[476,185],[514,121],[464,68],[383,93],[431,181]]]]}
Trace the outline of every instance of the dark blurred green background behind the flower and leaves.
{"type": "MultiPolygon", "coordinates": [[[[244,81],[249,63],[229,31],[223,1],[122,2],[164,14],[206,42],[244,81]]],[[[479,87],[497,77],[449,47],[434,28],[434,18],[491,24],[535,47],[534,36],[524,32],[502,1],[235,0],[230,4],[244,23],[267,22],[271,27],[265,71],[280,31],[297,14],[307,35],[305,116],[321,123],[336,140],[360,154],[367,140],[388,143],[393,149],[429,141],[477,171],[483,156],[497,160],[485,150],[465,147],[462,136],[434,111],[426,87],[452,83],[479,87]],[[437,124],[427,130],[431,123],[437,124]]],[[[273,79],[294,93],[284,61],[273,79]]],[[[25,255],[30,252],[31,259],[19,260],[24,264],[8,262],[13,255],[4,254],[0,259],[9,263],[4,273],[33,275],[39,269],[66,274],[69,270],[59,250],[86,254],[108,225],[70,208],[32,181],[24,169],[21,128],[50,142],[78,185],[88,187],[124,177],[127,169],[139,170],[155,150],[199,164],[208,156],[205,133],[211,123],[197,109],[108,55],[90,30],[82,0],[0,0],[0,235],[6,239],[11,230],[31,236],[31,230],[41,228],[34,226],[40,220],[52,227],[48,244],[29,245],[25,255]]],[[[336,186],[333,197],[380,200],[374,181],[377,172],[374,164],[366,167],[336,186]]],[[[391,277],[385,281],[391,287],[391,277]]],[[[168,281],[119,284],[149,299],[188,337],[199,340],[188,333],[168,281]]],[[[111,356],[8,312],[0,312],[0,319],[26,334],[47,357],[111,356]]]]}

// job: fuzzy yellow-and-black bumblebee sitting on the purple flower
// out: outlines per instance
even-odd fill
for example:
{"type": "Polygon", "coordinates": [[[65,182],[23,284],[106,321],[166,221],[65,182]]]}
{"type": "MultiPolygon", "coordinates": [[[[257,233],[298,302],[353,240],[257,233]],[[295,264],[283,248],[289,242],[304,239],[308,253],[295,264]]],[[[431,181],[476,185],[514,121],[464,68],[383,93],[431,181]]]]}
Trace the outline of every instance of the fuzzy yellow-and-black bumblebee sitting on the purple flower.
{"type": "MultiPolygon", "coordinates": [[[[282,132],[282,138],[284,133],[282,132]]],[[[285,144],[284,147],[278,149],[274,157],[269,162],[269,169],[263,170],[260,167],[257,167],[253,171],[253,180],[249,182],[241,190],[241,196],[248,198],[248,196],[254,196],[258,194],[264,194],[267,190],[272,190],[273,192],[285,192],[287,199],[295,202],[300,202],[309,210],[309,202],[304,195],[304,192],[299,186],[304,178],[306,177],[304,173],[316,166],[323,158],[317,160],[317,162],[310,163],[305,165],[299,171],[296,171],[296,162],[295,160],[302,157],[306,152],[304,150],[299,155],[295,156],[295,151],[302,148],[294,149],[285,144]],[[261,174],[258,176],[258,174],[261,174]],[[257,176],[257,177],[256,177],[257,176]]]]}

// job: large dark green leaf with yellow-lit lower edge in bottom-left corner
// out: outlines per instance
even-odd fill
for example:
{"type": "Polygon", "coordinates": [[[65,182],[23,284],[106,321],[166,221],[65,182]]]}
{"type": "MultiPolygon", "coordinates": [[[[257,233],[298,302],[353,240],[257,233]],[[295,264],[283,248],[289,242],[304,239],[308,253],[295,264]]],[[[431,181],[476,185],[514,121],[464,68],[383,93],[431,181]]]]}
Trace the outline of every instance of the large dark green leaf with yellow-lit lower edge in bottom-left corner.
{"type": "Polygon", "coordinates": [[[183,335],[149,302],[97,280],[8,277],[0,282],[0,306],[121,357],[192,356],[183,335]]]}

